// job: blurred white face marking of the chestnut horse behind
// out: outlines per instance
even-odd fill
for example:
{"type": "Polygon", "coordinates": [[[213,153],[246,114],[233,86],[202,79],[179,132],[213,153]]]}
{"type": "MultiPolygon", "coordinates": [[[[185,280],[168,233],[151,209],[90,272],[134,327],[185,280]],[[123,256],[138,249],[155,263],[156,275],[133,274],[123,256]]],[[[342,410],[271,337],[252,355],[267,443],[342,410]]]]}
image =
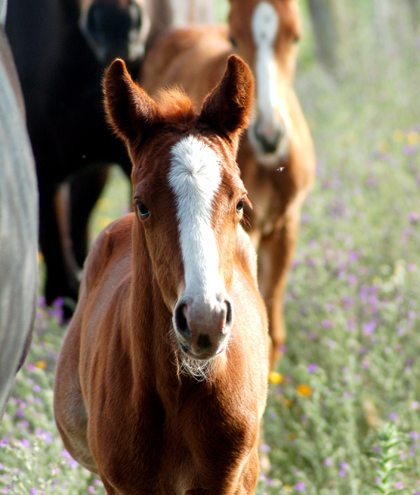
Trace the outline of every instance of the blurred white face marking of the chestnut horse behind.
{"type": "Polygon", "coordinates": [[[278,34],[280,19],[274,6],[266,1],[260,2],[251,19],[252,35],[256,46],[255,75],[257,79],[257,106],[254,120],[249,128],[249,137],[256,150],[259,161],[271,166],[278,163],[287,151],[288,139],[281,139],[273,153],[264,153],[258,143],[256,132],[273,141],[279,130],[288,138],[290,117],[287,111],[285,95],[281,95],[278,68],[274,52],[274,43],[278,34]],[[258,126],[258,131],[256,129],[258,126]]]}

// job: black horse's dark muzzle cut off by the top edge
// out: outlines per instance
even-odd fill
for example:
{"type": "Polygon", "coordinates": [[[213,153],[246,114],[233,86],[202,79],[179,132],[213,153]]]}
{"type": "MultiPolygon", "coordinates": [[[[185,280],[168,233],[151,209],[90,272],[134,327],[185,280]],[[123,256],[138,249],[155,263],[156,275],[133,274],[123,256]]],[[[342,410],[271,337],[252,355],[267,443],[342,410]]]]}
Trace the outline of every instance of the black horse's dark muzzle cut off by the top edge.
{"type": "Polygon", "coordinates": [[[78,0],[80,29],[100,63],[141,58],[150,31],[146,0],[78,0]]]}

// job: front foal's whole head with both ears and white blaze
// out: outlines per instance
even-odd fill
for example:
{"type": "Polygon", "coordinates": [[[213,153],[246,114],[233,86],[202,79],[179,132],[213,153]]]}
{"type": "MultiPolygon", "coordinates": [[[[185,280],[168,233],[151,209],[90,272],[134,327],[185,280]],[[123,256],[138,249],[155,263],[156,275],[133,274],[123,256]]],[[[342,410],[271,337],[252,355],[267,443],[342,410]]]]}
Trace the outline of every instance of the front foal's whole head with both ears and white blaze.
{"type": "Polygon", "coordinates": [[[232,55],[199,115],[176,90],[152,100],[121,60],[104,86],[108,120],[133,163],[134,270],[142,255],[136,235],[144,236],[182,355],[206,362],[224,350],[234,318],[229,291],[246,201],[235,157],[251,111],[251,73],[232,55]]]}

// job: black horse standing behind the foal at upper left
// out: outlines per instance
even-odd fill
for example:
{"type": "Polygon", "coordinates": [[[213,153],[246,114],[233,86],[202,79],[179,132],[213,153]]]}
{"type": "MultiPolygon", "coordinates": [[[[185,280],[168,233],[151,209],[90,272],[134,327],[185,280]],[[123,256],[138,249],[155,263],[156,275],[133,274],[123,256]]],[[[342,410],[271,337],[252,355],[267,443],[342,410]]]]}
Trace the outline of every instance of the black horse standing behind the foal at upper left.
{"type": "Polygon", "coordinates": [[[9,2],[6,30],[35,155],[48,303],[59,296],[77,298],[88,216],[107,165],[118,163],[131,173],[124,147],[104,120],[103,70],[120,56],[138,71],[146,44],[170,24],[170,17],[167,0],[9,2]],[[70,179],[68,227],[58,192],[70,179]]]}

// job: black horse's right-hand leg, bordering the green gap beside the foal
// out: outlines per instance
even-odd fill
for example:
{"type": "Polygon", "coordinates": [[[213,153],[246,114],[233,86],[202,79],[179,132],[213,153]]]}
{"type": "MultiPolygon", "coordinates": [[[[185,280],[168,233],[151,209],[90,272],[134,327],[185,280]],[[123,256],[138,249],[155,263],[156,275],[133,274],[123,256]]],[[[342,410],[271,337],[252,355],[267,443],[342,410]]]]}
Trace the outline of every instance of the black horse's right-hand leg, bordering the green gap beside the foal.
{"type": "Polygon", "coordinates": [[[109,176],[109,167],[96,166],[79,174],[70,183],[70,237],[73,253],[83,266],[88,251],[88,223],[109,176]]]}

